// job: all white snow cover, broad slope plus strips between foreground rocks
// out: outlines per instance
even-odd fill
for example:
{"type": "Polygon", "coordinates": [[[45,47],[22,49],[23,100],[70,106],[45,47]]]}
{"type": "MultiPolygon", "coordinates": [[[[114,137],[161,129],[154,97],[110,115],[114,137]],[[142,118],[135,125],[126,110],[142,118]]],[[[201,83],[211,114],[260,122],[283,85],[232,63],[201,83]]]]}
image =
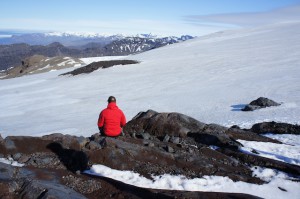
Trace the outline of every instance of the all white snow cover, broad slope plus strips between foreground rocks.
{"type": "MultiPolygon", "coordinates": [[[[127,57],[140,64],[78,76],[58,76],[71,70],[64,69],[1,80],[0,133],[3,137],[49,133],[90,136],[97,132],[98,114],[110,95],[116,96],[128,120],[140,111],[153,109],[180,112],[201,122],[225,126],[251,127],[262,121],[300,124],[299,36],[299,22],[231,30],[127,57]],[[254,112],[240,111],[244,104],[261,96],[283,104],[254,112]]],[[[278,147],[243,142],[243,150],[254,148],[261,155],[299,165],[299,136],[277,135],[277,139],[286,144],[278,147]]],[[[108,170],[95,165],[88,172],[105,175],[108,170]]],[[[117,177],[123,175],[111,171],[108,176],[115,173],[117,177]]],[[[266,169],[254,173],[270,183],[251,185],[216,176],[190,181],[182,176],[164,176],[157,180],[166,180],[160,188],[300,198],[299,182],[288,180],[286,174],[266,169]],[[173,186],[173,182],[180,185],[173,186]]],[[[118,179],[129,183],[132,178],[141,186],[153,183],[130,175],[118,179]]]]}

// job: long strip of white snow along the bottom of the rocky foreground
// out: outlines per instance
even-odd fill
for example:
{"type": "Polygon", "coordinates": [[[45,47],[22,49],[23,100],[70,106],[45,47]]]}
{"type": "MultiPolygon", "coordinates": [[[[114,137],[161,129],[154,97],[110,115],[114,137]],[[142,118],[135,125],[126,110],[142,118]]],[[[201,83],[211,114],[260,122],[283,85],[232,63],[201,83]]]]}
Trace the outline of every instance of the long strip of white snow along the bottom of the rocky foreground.
{"type": "Polygon", "coordinates": [[[115,170],[104,165],[93,165],[92,168],[85,171],[85,173],[151,189],[228,193],[243,192],[270,199],[297,198],[300,195],[299,183],[291,181],[292,179],[286,174],[272,169],[258,167],[252,170],[253,175],[267,180],[268,183],[256,185],[246,182],[233,182],[228,177],[221,176],[203,176],[202,178],[188,179],[182,175],[173,176],[168,174],[152,176],[153,180],[150,180],[132,171],[115,170]],[[282,191],[278,187],[287,191],[282,191]]]}

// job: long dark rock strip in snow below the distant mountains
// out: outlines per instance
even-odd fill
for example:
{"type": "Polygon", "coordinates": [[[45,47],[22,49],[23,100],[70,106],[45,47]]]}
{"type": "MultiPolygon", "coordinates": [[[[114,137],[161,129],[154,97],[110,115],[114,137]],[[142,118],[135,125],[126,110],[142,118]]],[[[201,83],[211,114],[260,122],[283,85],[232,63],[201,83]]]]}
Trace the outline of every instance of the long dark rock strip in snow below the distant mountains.
{"type": "Polygon", "coordinates": [[[77,68],[71,72],[63,73],[61,75],[79,75],[82,73],[91,73],[99,68],[109,68],[114,65],[127,65],[127,64],[137,64],[139,62],[134,60],[113,60],[113,61],[99,61],[93,62],[87,66],[77,68]]]}

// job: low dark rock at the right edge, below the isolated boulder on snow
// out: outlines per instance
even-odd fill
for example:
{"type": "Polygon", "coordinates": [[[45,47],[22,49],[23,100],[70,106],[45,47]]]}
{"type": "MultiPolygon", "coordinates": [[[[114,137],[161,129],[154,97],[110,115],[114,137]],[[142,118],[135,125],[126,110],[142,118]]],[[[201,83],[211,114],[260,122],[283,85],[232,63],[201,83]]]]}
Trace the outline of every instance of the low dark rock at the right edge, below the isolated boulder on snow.
{"type": "Polygon", "coordinates": [[[251,128],[251,131],[258,134],[274,133],[300,135],[300,126],[287,123],[262,122],[254,124],[251,128]]]}

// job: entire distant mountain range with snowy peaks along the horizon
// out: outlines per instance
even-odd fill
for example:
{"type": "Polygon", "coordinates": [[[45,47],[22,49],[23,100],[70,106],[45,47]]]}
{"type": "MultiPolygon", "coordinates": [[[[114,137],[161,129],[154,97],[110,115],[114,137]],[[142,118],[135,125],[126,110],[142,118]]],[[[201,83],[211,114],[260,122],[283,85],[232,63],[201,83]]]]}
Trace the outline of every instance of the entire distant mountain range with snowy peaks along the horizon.
{"type": "Polygon", "coordinates": [[[77,58],[129,55],[192,38],[189,35],[158,37],[151,34],[123,36],[54,32],[10,35],[0,32],[0,70],[21,65],[22,60],[33,55],[77,58]]]}

